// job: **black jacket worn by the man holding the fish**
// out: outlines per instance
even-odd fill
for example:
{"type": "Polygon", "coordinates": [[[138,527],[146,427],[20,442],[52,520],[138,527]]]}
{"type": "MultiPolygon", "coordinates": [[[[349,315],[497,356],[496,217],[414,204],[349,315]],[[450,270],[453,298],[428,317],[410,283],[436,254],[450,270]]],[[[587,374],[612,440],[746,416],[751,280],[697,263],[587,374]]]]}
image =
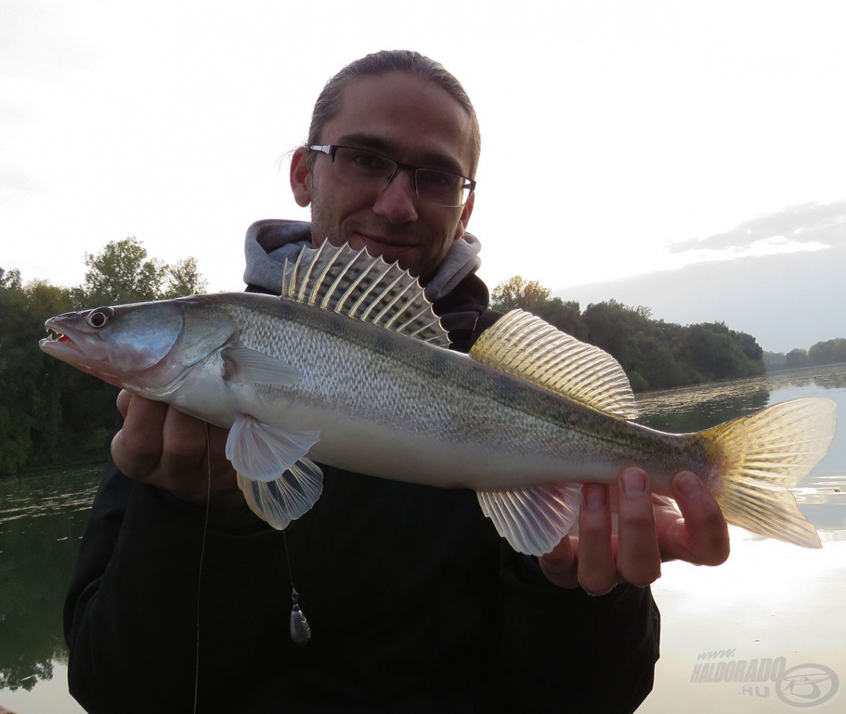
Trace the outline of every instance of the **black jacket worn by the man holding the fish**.
{"type": "MultiPolygon", "coordinates": [[[[467,350],[497,318],[470,275],[435,305],[467,350]]],[[[560,589],[471,490],[324,467],[288,528],[312,638],[288,635],[281,533],[203,513],[107,464],[65,606],[71,693],[91,712],[634,711],[652,686],[648,588],[560,589]],[[199,666],[198,666],[199,584],[199,666]]]]}

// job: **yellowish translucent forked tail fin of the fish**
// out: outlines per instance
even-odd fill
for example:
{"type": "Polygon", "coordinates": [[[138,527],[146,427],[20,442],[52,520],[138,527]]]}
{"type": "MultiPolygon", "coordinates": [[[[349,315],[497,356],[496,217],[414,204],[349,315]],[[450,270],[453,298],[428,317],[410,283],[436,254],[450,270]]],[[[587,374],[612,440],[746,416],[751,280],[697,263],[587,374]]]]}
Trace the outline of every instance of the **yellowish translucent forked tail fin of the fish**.
{"type": "Polygon", "coordinates": [[[728,523],[820,548],[816,529],[788,489],[826,455],[836,423],[833,401],[808,398],[784,401],[697,434],[717,447],[719,473],[711,490],[728,523]]]}

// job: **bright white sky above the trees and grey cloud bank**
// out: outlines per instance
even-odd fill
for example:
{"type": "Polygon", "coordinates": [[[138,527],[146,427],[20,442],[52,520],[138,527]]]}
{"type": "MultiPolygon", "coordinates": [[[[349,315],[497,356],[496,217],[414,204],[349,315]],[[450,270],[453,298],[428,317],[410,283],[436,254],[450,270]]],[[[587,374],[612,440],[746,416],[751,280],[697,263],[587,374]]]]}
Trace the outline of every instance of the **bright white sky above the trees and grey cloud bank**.
{"type": "Polygon", "coordinates": [[[240,290],[248,225],[309,218],[288,156],[322,85],[395,47],[475,104],[492,287],[846,244],[840,0],[197,7],[4,0],[0,267],[79,285],[134,235],[240,290]]]}

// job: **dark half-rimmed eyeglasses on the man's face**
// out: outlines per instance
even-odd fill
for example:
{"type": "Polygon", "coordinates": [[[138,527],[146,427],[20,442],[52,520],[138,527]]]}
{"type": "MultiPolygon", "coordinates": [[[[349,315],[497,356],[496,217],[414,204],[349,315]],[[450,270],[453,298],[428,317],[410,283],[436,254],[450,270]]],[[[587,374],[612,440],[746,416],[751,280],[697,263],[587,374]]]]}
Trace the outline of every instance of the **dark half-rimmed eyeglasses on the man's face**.
{"type": "Polygon", "coordinates": [[[420,201],[436,206],[458,208],[464,206],[475,190],[475,181],[466,176],[440,169],[420,169],[399,163],[381,154],[365,152],[335,144],[313,144],[309,151],[323,152],[332,158],[332,170],[344,183],[367,186],[382,191],[391,184],[399,169],[410,171],[415,179],[415,192],[420,201]]]}

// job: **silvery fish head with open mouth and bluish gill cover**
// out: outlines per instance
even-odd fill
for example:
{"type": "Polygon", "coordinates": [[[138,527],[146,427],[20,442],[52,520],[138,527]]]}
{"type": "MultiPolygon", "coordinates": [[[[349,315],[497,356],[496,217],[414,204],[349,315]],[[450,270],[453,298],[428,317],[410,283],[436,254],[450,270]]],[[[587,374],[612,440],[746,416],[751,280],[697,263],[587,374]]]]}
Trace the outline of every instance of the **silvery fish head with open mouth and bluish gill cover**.
{"type": "Polygon", "coordinates": [[[64,313],[44,327],[42,351],[129,390],[171,384],[234,332],[225,313],[193,298],[64,313]]]}

